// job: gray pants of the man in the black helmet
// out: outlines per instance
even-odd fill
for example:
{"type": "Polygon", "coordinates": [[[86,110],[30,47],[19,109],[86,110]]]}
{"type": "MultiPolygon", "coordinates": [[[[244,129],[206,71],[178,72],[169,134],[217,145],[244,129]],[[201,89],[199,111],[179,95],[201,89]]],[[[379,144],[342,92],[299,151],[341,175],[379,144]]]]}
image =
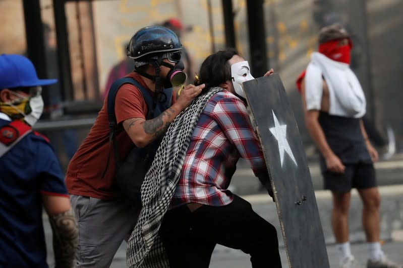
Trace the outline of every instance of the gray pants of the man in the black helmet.
{"type": "Polygon", "coordinates": [[[76,267],[109,267],[113,256],[128,240],[138,212],[118,200],[70,196],[78,219],[76,267]]]}

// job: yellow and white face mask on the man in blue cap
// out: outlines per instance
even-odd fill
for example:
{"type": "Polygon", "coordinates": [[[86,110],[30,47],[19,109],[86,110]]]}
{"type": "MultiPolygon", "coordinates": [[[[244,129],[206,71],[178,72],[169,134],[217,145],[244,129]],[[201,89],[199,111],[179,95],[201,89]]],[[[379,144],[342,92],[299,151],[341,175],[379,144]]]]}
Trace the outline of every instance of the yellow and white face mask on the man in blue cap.
{"type": "Polygon", "coordinates": [[[7,103],[0,103],[0,112],[8,115],[12,120],[25,121],[31,127],[35,125],[42,115],[44,104],[41,96],[42,87],[34,88],[35,92],[29,97],[13,92],[19,98],[7,103]]]}

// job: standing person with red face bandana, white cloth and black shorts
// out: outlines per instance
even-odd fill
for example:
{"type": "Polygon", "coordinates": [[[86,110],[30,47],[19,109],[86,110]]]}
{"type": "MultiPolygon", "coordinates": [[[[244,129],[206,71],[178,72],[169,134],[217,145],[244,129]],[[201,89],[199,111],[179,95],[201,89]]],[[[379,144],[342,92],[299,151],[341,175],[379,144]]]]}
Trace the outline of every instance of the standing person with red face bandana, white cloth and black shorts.
{"type": "Polygon", "coordinates": [[[339,251],[340,267],[355,267],[349,242],[348,215],[351,189],[363,201],[363,227],[368,242],[368,268],[402,267],[385,257],[379,243],[380,196],[374,162],[378,153],[371,145],[362,117],[364,92],[350,68],[352,42],[339,24],[319,32],[318,52],[297,79],[305,123],[320,151],[324,187],[332,192],[331,224],[339,251]]]}

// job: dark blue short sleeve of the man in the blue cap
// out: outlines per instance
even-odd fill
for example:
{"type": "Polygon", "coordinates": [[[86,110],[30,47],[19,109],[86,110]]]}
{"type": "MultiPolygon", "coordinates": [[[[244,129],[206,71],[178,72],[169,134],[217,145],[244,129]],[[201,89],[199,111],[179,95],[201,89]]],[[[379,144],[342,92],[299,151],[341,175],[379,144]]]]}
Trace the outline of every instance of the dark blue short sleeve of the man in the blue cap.
{"type": "Polygon", "coordinates": [[[35,167],[39,178],[40,193],[68,197],[62,169],[50,145],[40,144],[36,155],[39,156],[35,158],[35,167]]]}

